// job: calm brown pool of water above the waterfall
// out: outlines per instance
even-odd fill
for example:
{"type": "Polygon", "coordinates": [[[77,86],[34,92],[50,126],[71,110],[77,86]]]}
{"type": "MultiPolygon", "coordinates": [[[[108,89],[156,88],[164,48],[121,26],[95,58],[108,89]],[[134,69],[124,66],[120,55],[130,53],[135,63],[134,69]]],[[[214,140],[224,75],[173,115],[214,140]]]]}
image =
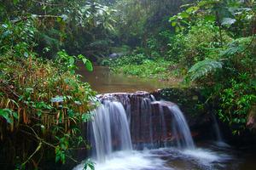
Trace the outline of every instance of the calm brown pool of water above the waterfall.
{"type": "Polygon", "coordinates": [[[79,65],[78,73],[84,82],[89,82],[93,90],[99,94],[136,91],[152,92],[159,88],[177,86],[179,80],[172,82],[159,81],[154,78],[126,77],[110,73],[108,67],[95,66],[94,71],[86,71],[84,65],[79,65]]]}

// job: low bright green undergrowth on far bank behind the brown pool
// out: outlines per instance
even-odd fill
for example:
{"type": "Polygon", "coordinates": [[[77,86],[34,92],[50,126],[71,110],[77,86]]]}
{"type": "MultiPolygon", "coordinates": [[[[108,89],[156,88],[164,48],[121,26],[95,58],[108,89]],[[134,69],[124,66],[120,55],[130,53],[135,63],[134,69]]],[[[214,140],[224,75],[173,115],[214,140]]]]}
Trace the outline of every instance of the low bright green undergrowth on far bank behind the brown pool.
{"type": "Polygon", "coordinates": [[[150,59],[144,54],[131,54],[117,59],[104,59],[102,65],[109,66],[113,73],[126,76],[156,78],[159,80],[171,80],[173,77],[181,77],[177,65],[165,59],[150,59]]]}

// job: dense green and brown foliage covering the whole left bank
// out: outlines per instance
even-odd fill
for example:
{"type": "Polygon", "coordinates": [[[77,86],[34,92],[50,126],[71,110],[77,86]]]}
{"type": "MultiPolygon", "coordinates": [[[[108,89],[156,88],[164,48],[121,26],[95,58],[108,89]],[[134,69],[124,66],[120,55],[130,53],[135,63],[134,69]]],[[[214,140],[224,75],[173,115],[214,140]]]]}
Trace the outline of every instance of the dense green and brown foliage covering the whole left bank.
{"type": "Polygon", "coordinates": [[[75,70],[79,60],[88,71],[93,67],[84,55],[67,54],[74,51],[67,42],[75,41],[65,39],[88,28],[91,20],[102,20],[96,13],[107,13],[108,8],[91,3],[1,3],[0,168],[48,168],[45,161],[77,163],[74,151],[90,148],[81,129],[96,106],[96,93],[75,70]],[[91,8],[97,8],[93,14],[91,8]]]}

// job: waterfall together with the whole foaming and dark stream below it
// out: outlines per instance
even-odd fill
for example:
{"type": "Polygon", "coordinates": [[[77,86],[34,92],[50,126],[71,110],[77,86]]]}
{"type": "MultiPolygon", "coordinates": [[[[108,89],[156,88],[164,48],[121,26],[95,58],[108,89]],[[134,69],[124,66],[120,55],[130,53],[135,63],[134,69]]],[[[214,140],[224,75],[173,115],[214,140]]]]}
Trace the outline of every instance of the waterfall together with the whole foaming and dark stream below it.
{"type": "MultiPolygon", "coordinates": [[[[107,85],[108,88],[101,88],[104,93],[118,88],[117,84],[112,86],[112,82],[102,82],[96,87],[92,83],[93,88],[107,85]]],[[[127,88],[121,88],[133,91],[141,86],[128,88],[131,85],[128,84],[127,88]]],[[[156,101],[144,92],[98,97],[102,105],[96,109],[89,127],[91,159],[96,163],[96,170],[255,169],[256,152],[252,150],[234,150],[207,142],[195,145],[185,116],[171,102],[156,101]]],[[[218,123],[214,126],[220,142],[218,123]]],[[[83,167],[82,163],[74,170],[83,167]]]]}

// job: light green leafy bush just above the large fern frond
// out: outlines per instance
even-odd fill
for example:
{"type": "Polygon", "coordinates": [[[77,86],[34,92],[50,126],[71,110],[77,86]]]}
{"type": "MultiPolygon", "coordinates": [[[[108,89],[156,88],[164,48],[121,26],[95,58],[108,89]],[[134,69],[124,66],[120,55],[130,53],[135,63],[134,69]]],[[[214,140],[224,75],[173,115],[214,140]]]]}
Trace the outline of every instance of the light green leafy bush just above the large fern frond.
{"type": "MultiPolygon", "coordinates": [[[[224,32],[224,42],[232,39],[224,32]]],[[[180,32],[171,37],[168,60],[182,63],[186,67],[203,59],[215,59],[221,44],[218,40],[218,27],[212,23],[199,21],[188,32],[180,32]]]]}

